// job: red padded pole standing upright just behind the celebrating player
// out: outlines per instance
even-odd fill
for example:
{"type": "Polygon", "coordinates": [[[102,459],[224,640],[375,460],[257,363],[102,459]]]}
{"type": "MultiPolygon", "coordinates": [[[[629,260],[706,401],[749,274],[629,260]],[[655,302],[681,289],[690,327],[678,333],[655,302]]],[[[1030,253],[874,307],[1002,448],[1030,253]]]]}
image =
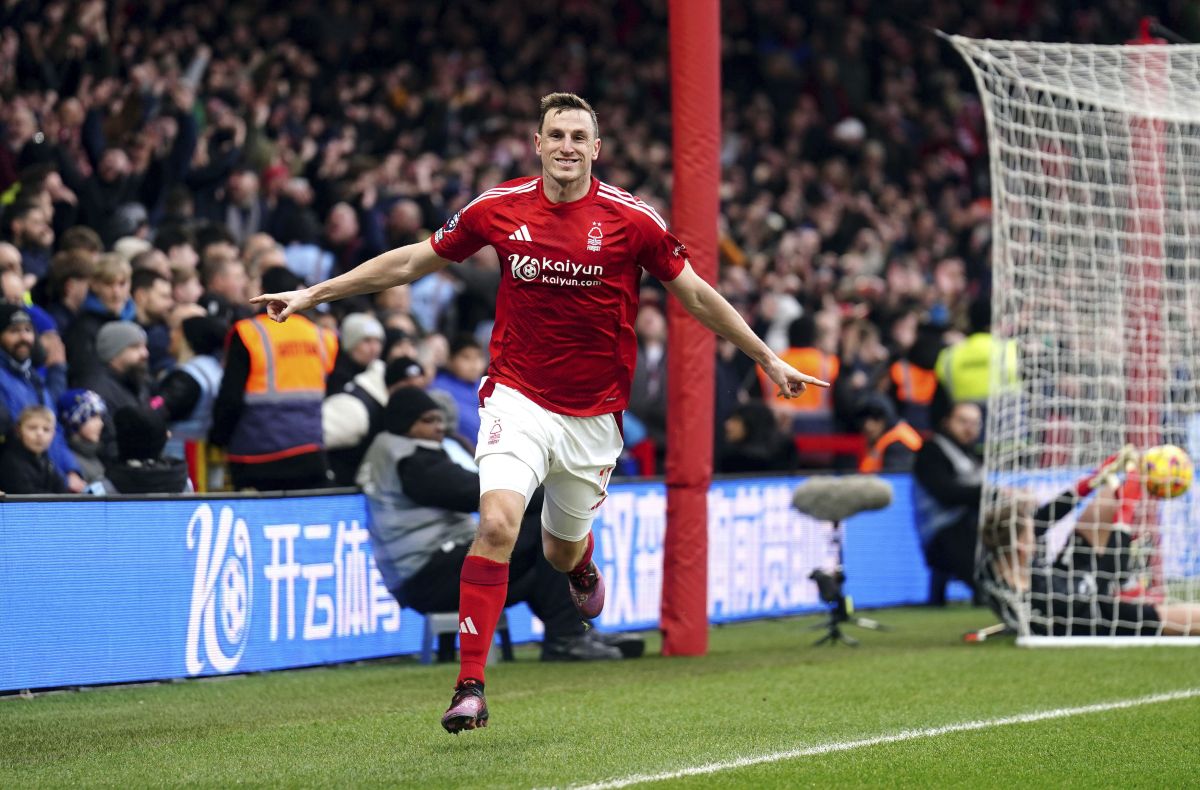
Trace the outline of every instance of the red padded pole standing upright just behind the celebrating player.
{"type": "MultiPolygon", "coordinates": [[[[671,220],[692,269],[716,279],[720,180],[720,4],[671,0],[671,220]]],[[[667,527],[664,656],[708,652],[708,487],[713,478],[715,341],[674,299],[667,307],[667,527]]]]}

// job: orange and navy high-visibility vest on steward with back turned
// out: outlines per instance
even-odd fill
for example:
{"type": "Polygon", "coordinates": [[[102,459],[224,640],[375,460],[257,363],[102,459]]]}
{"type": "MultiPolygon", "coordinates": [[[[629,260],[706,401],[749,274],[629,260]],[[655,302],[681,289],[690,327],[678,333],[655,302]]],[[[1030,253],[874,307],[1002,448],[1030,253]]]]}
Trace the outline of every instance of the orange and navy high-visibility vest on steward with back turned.
{"type": "Polygon", "coordinates": [[[281,324],[259,315],[239,321],[234,331],[250,353],[250,375],[229,460],[264,463],[322,449],[320,403],[337,336],[304,316],[281,324]]]}

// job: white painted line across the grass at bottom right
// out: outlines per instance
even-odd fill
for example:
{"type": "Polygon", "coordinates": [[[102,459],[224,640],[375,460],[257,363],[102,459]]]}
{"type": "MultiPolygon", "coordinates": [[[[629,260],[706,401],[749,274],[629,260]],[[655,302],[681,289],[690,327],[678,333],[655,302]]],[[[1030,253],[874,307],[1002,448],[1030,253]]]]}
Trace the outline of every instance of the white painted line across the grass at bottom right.
{"type": "Polygon", "coordinates": [[[1097,702],[1096,705],[1082,705],[1080,707],[1061,707],[1054,711],[1038,711],[1036,713],[1022,713],[1020,716],[1006,716],[998,719],[983,719],[977,722],[960,722],[959,724],[947,724],[944,726],[932,726],[923,730],[901,730],[890,735],[876,735],[859,741],[838,741],[834,743],[822,743],[818,746],[804,747],[800,749],[787,749],[786,752],[773,752],[756,758],[739,758],[737,760],[724,760],[720,762],[707,762],[692,768],[680,768],[678,771],[664,771],[661,773],[637,773],[619,779],[596,782],[594,784],[572,785],[575,790],[614,790],[616,788],[628,788],[635,784],[647,784],[650,782],[665,782],[667,779],[679,779],[683,777],[703,776],[706,773],[719,773],[732,771],[752,765],[764,765],[768,762],[780,762],[782,760],[794,760],[797,758],[811,758],[818,754],[830,754],[833,752],[848,752],[883,743],[898,743],[901,741],[916,741],[918,738],[932,738],[938,735],[952,732],[970,732],[972,730],[988,730],[995,726],[1008,726],[1010,724],[1031,724],[1033,722],[1045,722],[1048,719],[1063,719],[1069,716],[1086,716],[1088,713],[1104,713],[1105,711],[1120,711],[1142,705],[1156,705],[1158,702],[1174,702],[1177,700],[1189,700],[1200,696],[1200,688],[1168,692],[1165,694],[1151,694],[1150,696],[1138,696],[1130,700],[1115,700],[1112,702],[1097,702]]]}

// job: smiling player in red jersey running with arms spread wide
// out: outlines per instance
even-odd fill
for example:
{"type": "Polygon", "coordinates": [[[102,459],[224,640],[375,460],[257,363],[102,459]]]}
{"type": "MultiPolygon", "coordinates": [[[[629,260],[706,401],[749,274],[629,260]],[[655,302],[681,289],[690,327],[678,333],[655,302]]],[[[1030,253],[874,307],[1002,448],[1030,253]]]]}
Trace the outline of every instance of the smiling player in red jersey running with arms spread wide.
{"type": "Polygon", "coordinates": [[[484,665],[504,606],[509,555],[538,485],[546,486],[546,558],[568,574],[583,617],[596,617],[604,606],[592,519],[622,449],[643,269],[758,363],[781,395],[828,387],[782,361],[692,271],[684,245],[654,209],[592,176],[600,127],[588,102],[574,94],[544,97],[534,150],[540,176],[484,192],[431,239],[312,287],[251,300],[286,321],[322,303],[412,282],[487,245],[500,257],[491,364],[479,390],[479,532],[462,565],[461,668],[442,717],[449,732],[487,724],[484,665]]]}

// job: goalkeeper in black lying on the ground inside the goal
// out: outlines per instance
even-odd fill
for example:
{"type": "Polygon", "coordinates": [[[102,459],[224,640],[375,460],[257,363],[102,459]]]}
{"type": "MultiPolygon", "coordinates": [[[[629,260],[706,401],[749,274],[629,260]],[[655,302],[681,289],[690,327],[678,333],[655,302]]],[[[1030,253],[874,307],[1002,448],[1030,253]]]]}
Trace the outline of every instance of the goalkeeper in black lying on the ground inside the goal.
{"type": "Polygon", "coordinates": [[[1020,633],[1024,612],[1036,636],[1200,635],[1200,604],[1138,592],[1140,552],[1128,522],[1140,486],[1118,478],[1136,457],[1132,447],[1121,450],[1042,507],[1021,492],[985,513],[979,587],[1007,626],[1020,633]],[[1050,529],[1085,502],[1051,562],[1050,529]]]}

